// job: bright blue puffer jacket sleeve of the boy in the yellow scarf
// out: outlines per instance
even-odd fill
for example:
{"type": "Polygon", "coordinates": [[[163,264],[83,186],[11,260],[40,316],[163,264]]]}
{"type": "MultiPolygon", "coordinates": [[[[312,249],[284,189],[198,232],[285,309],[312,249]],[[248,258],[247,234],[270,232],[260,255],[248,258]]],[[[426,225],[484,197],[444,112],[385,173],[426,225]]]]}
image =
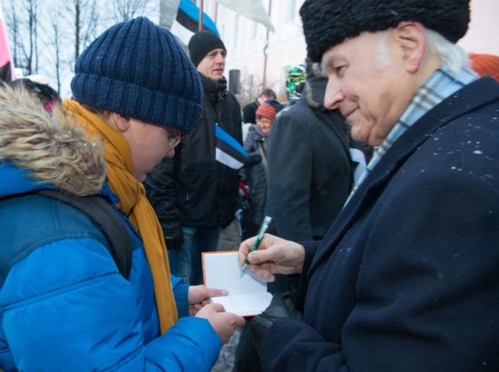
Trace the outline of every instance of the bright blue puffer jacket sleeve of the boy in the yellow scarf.
{"type": "Polygon", "coordinates": [[[0,292],[2,339],[19,370],[209,371],[220,338],[182,318],[145,345],[132,285],[95,240],[58,240],[9,272],[0,292]]]}

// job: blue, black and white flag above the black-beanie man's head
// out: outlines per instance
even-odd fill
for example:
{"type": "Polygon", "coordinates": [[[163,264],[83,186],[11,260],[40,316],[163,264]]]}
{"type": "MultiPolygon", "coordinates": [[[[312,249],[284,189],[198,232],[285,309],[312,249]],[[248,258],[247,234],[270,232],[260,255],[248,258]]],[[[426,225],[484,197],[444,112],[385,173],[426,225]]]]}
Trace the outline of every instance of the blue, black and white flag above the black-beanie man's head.
{"type": "MultiPolygon", "coordinates": [[[[177,36],[183,44],[187,45],[191,36],[199,30],[199,22],[200,8],[190,0],[181,0],[177,17],[171,24],[171,34],[177,36]]],[[[202,15],[202,29],[219,34],[217,26],[206,13],[202,15]]]]}

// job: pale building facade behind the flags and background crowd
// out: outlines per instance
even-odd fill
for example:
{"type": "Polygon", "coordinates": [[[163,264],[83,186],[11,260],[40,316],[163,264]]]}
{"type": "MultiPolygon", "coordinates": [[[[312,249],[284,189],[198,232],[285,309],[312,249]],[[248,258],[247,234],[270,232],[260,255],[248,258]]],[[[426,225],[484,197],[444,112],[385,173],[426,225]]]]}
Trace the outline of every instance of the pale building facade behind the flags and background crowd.
{"type": "MultiPolygon", "coordinates": [[[[215,21],[228,49],[227,75],[240,71],[240,101],[254,99],[262,86],[286,101],[285,78],[289,68],[304,62],[307,46],[298,12],[304,0],[263,0],[276,31],[236,15],[213,0],[204,11],[215,21]]],[[[198,1],[199,5],[199,1],[198,1]]],[[[472,0],[468,33],[459,41],[465,51],[499,54],[499,1],[472,0]]]]}

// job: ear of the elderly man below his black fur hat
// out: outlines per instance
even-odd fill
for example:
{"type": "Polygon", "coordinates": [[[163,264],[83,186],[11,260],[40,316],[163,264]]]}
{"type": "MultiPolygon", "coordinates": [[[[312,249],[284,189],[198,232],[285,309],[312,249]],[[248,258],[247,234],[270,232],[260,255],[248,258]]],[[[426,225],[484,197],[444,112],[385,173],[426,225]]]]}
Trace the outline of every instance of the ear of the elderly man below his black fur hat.
{"type": "Polygon", "coordinates": [[[407,73],[417,73],[423,63],[426,51],[426,34],[423,24],[401,22],[394,29],[407,73]]]}

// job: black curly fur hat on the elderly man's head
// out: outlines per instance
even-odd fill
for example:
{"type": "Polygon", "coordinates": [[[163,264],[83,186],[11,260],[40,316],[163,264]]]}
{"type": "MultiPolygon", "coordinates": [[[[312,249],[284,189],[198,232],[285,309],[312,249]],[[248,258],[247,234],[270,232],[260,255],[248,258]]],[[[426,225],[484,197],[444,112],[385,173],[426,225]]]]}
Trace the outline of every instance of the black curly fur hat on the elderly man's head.
{"type": "Polygon", "coordinates": [[[331,46],[364,31],[414,21],[452,43],[466,34],[470,0],[306,0],[299,10],[308,57],[319,62],[331,46]]]}

